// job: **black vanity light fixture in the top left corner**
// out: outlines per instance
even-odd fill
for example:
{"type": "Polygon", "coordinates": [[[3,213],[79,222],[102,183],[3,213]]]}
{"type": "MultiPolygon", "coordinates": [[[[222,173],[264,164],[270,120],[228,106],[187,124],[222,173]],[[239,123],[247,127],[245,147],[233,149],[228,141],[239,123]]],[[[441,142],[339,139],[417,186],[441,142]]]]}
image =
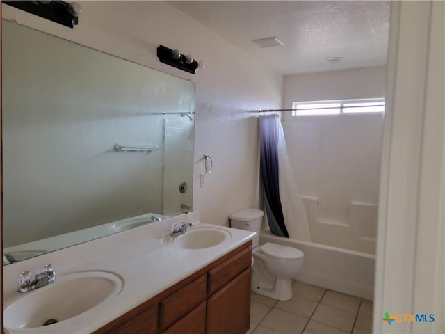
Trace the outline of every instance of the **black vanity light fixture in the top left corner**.
{"type": "Polygon", "coordinates": [[[1,1],[25,12],[49,19],[52,22],[74,28],[82,13],[79,3],[65,1],[1,1]]]}

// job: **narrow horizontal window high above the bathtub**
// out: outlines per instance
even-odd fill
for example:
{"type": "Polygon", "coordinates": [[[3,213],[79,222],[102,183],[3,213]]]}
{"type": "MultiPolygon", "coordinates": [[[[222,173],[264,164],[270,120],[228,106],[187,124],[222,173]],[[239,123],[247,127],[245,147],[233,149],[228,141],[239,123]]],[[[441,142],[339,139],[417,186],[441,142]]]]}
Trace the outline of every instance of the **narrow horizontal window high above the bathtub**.
{"type": "Polygon", "coordinates": [[[292,116],[383,113],[385,111],[385,100],[292,102],[292,109],[292,116]]]}

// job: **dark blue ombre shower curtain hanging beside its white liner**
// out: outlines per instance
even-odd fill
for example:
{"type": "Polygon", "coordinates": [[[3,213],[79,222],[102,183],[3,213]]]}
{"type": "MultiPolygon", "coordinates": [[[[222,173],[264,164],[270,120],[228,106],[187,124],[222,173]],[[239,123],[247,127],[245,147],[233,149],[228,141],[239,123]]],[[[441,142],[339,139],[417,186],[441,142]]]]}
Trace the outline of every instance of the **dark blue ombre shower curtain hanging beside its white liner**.
{"type": "Polygon", "coordinates": [[[259,118],[261,157],[260,174],[264,207],[268,218],[270,232],[280,237],[289,238],[280,200],[280,177],[278,170],[278,116],[261,116],[259,118]]]}

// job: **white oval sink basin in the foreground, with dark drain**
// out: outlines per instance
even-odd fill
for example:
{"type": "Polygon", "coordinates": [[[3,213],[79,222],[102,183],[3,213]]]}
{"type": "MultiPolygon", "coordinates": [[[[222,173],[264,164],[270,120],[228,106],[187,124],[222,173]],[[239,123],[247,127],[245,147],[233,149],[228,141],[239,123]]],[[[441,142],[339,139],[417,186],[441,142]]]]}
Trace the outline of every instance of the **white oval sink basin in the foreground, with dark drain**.
{"type": "Polygon", "coordinates": [[[5,301],[4,326],[14,333],[42,327],[50,319],[64,321],[117,296],[122,287],[122,278],[105,271],[56,276],[54,283],[23,294],[17,292],[14,301],[5,301]]]}

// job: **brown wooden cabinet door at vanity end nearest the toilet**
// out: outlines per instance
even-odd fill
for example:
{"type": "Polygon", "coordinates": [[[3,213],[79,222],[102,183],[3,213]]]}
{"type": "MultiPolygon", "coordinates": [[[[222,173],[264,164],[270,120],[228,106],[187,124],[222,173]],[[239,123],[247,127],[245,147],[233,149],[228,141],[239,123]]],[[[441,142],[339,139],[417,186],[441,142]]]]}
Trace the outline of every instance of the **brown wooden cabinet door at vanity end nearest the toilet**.
{"type": "Polygon", "coordinates": [[[248,268],[207,299],[207,334],[245,334],[250,326],[248,268]]]}

